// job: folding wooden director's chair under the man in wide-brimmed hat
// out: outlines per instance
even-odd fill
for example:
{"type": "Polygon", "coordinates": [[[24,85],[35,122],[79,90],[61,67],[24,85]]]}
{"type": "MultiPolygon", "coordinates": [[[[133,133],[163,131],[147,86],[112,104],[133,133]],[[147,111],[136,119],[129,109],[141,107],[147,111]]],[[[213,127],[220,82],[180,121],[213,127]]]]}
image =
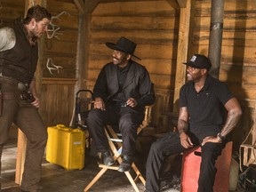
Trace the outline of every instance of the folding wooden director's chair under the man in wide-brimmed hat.
{"type": "MultiPolygon", "coordinates": [[[[148,124],[151,122],[151,110],[152,106],[146,106],[145,107],[145,116],[144,120],[142,121],[142,124],[137,129],[137,134],[140,134],[140,132],[148,126],[148,124]]],[[[105,126],[105,132],[108,138],[108,143],[110,150],[114,154],[114,159],[116,160],[117,164],[107,166],[105,164],[99,164],[100,172],[92,179],[92,181],[84,188],[84,192],[87,192],[92,186],[100,180],[100,177],[107,172],[108,170],[118,170],[119,164],[122,163],[122,156],[121,156],[121,151],[122,151],[122,135],[118,134],[114,131],[114,128],[111,125],[105,126]]],[[[136,181],[140,179],[143,185],[145,185],[146,180],[143,178],[141,175],[139,169],[137,168],[136,164],[132,163],[132,169],[129,172],[124,172],[128,180],[131,182],[132,187],[136,192],[140,192],[138,186],[136,185],[136,181]],[[133,179],[131,171],[135,172],[135,178],[133,179]]]]}

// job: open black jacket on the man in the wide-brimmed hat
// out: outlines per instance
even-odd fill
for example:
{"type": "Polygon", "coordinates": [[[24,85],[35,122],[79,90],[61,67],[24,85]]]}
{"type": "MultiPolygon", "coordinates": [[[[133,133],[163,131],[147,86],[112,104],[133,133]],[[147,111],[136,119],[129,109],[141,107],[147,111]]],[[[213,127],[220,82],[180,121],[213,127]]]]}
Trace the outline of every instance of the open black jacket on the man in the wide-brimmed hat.
{"type": "MultiPolygon", "coordinates": [[[[139,63],[130,60],[130,68],[124,82],[123,92],[125,100],[134,98],[141,110],[155,101],[154,84],[151,82],[148,70],[139,63]]],[[[100,71],[100,75],[93,89],[93,99],[100,97],[108,105],[119,90],[117,66],[110,62],[100,71]]]]}

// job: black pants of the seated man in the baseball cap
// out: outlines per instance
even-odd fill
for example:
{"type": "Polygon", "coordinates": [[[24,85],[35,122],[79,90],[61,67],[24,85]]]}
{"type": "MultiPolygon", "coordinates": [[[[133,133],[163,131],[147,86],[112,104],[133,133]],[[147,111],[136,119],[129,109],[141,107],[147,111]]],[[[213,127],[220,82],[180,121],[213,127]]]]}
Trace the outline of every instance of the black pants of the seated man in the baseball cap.
{"type": "MultiPolygon", "coordinates": [[[[189,135],[193,143],[199,144],[198,140],[189,135]]],[[[215,179],[215,161],[220,156],[224,144],[206,143],[202,147],[202,162],[200,165],[200,175],[198,180],[198,192],[212,192],[215,179]]],[[[195,146],[196,147],[196,146],[195,146]]],[[[164,164],[166,156],[180,154],[187,150],[180,145],[179,132],[170,132],[164,137],[156,140],[151,145],[146,167],[146,191],[160,191],[160,170],[164,164]]]]}

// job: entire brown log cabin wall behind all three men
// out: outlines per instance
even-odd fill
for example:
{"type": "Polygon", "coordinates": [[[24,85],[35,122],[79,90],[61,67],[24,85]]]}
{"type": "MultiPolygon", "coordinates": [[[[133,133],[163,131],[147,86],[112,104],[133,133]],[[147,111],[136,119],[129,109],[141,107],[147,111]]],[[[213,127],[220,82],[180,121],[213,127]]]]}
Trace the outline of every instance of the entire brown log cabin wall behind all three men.
{"type": "MultiPolygon", "coordinates": [[[[24,0],[0,1],[1,27],[8,26],[14,20],[23,17],[24,0]]],[[[68,14],[60,15],[60,20],[52,20],[55,27],[60,27],[55,34],[58,38],[45,37],[40,46],[43,50],[42,60],[39,60],[42,84],[38,91],[42,101],[40,112],[45,124],[69,124],[77,81],[83,82],[82,88],[92,89],[100,68],[111,60],[112,51],[105,46],[105,43],[116,43],[119,36],[127,36],[138,44],[135,53],[142,60],[137,61],[148,68],[155,83],[156,104],[153,124],[156,131],[168,130],[168,119],[164,113],[172,111],[175,69],[177,65],[181,65],[176,63],[177,53],[184,52],[177,48],[180,10],[177,7],[173,8],[170,2],[172,1],[108,2],[102,0],[102,3],[95,5],[90,15],[85,16],[89,20],[84,20],[84,29],[81,28],[83,25],[80,26],[83,20],[78,24],[81,14],[79,17],[73,0],[46,1],[46,7],[53,16],[63,11],[68,14]],[[76,48],[79,30],[84,30],[84,34],[87,34],[83,50],[76,48]],[[77,62],[76,52],[82,52],[86,60],[77,62]],[[56,67],[52,70],[47,69],[46,64],[49,58],[52,59],[52,64],[62,67],[59,68],[59,72],[56,67]],[[84,70],[77,69],[84,66],[84,70]],[[78,76],[82,74],[83,79],[77,79],[77,74],[78,76]]],[[[220,80],[228,84],[244,111],[241,121],[232,133],[237,149],[251,127],[255,126],[256,1],[225,0],[224,5],[220,80]]],[[[188,57],[196,52],[207,55],[211,1],[195,0],[192,10],[188,57]]],[[[253,134],[256,135],[256,132],[253,134]]]]}

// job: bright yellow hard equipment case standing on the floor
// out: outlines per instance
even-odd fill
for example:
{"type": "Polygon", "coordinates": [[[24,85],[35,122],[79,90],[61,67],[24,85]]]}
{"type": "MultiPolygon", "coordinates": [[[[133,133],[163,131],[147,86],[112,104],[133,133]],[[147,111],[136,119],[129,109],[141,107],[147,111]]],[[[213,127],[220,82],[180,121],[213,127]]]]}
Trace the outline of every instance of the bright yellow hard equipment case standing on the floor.
{"type": "Polygon", "coordinates": [[[46,160],[67,170],[84,168],[85,132],[63,124],[48,127],[46,160]]]}

